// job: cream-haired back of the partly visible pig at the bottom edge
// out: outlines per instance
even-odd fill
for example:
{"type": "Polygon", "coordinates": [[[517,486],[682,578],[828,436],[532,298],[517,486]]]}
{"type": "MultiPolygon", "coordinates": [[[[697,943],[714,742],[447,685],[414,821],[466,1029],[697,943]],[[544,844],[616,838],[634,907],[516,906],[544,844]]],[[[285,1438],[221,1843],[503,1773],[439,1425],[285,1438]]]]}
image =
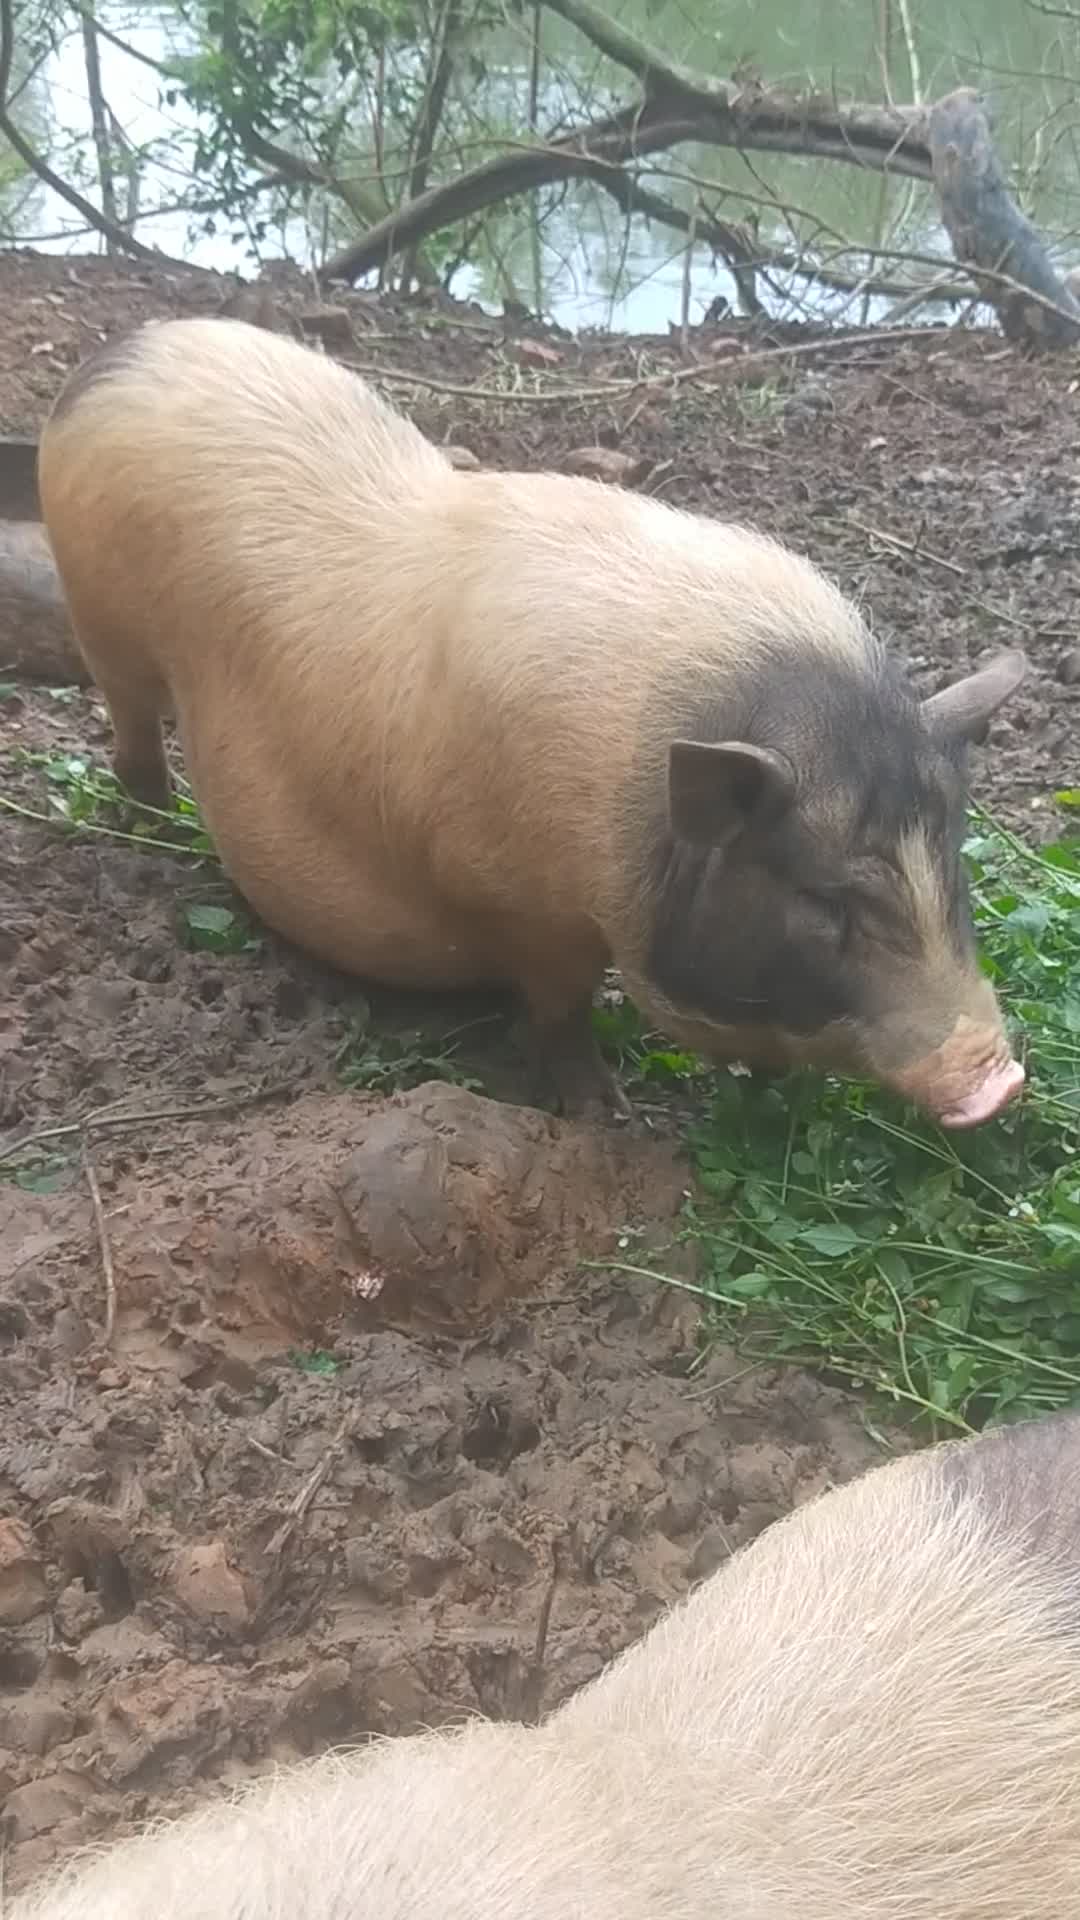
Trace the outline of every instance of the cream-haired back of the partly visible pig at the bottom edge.
{"type": "Polygon", "coordinates": [[[6,1920],[1072,1920],[1080,1415],[771,1526],[540,1728],[258,1784],[6,1920]]]}

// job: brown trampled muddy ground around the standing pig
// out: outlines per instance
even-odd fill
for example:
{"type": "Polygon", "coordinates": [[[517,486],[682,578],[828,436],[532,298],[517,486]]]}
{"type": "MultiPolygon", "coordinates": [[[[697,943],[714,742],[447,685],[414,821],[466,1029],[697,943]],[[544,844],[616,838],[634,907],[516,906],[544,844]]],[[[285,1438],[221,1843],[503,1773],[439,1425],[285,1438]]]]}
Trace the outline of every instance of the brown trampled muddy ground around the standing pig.
{"type": "MultiPolygon", "coordinates": [[[[37,430],[102,336],[225,292],[0,255],[0,432],[37,430]]],[[[865,595],[924,687],[1020,641],[1034,672],[976,795],[1032,837],[1065,824],[1072,357],[938,332],[780,353],[809,336],[730,326],[684,355],[288,275],[275,301],[344,305],[344,332],[311,323],[331,349],[482,463],[601,447],[671,501],[759,520],[865,595]]],[[[8,664],[0,791],[40,808],[23,755],[106,764],[108,722],[92,689],[8,664]]],[[[855,1398],[723,1350],[692,1365],[692,1296],[582,1265],[690,1271],[669,1112],[651,1135],[561,1125],[519,1104],[498,1004],[363,993],[258,925],[208,952],[190,908],[238,904],[211,868],[0,831],[8,1885],[281,1757],[546,1711],[878,1455],[855,1398]],[[438,1083],[448,1046],[480,1092],[438,1083]],[[357,1060],[390,1091],[346,1091],[357,1060]]]]}

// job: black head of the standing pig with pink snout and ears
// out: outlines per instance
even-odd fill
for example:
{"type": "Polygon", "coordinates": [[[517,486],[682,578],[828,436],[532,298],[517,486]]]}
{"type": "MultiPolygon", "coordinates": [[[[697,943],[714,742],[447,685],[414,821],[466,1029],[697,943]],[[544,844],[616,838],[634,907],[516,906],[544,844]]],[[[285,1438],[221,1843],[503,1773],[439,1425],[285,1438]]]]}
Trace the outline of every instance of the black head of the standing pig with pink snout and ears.
{"type": "Polygon", "coordinates": [[[974,952],[965,758],[1024,660],[922,705],[869,662],[776,664],[736,739],[701,708],[671,747],[640,987],[713,1058],[867,1075],[976,1125],[1024,1075],[974,952]]]}

